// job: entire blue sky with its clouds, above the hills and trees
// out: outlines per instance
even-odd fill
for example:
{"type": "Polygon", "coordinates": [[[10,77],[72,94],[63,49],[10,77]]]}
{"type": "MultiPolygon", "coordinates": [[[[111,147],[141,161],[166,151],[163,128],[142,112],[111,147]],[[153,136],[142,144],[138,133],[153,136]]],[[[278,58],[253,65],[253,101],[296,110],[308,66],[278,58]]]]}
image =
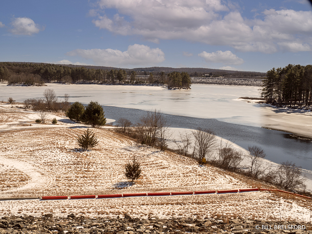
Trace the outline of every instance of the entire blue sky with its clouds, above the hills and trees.
{"type": "Polygon", "coordinates": [[[3,1],[0,61],[266,72],[312,64],[307,0],[3,1]]]}

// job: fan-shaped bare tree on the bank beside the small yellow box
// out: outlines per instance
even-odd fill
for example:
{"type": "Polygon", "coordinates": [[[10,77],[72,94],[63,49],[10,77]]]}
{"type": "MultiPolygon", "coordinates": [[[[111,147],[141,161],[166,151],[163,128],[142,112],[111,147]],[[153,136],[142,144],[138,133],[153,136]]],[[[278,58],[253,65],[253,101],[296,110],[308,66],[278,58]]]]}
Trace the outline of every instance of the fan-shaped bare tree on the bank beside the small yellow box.
{"type": "Polygon", "coordinates": [[[210,158],[217,147],[216,135],[211,129],[203,129],[198,127],[192,130],[195,138],[193,158],[201,161],[202,158],[210,158]]]}

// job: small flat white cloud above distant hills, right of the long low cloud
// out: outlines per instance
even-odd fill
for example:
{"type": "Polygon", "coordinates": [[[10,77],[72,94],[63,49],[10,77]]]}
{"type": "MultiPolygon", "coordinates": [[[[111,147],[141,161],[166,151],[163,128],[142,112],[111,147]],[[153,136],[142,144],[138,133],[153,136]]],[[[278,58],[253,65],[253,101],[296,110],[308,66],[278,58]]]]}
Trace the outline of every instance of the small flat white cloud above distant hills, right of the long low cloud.
{"type": "Polygon", "coordinates": [[[237,57],[228,50],[224,52],[218,50],[212,53],[203,51],[202,53],[198,54],[198,56],[204,58],[207,63],[223,63],[225,65],[242,65],[244,63],[244,60],[237,57]]]}

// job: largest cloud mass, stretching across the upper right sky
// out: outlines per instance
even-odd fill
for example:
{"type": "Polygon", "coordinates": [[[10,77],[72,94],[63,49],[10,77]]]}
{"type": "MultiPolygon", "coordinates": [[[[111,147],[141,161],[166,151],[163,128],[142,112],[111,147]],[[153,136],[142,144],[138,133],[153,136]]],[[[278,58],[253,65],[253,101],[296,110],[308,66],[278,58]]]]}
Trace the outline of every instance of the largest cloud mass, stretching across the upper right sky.
{"type": "Polygon", "coordinates": [[[302,41],[299,51],[311,46],[312,11],[269,9],[263,19],[243,18],[238,6],[221,0],[99,0],[92,12],[96,27],[119,35],[141,35],[148,41],[184,39],[210,45],[232,46],[238,51],[275,53],[278,42],[302,41]],[[115,9],[108,17],[100,11],[115,9]],[[307,45],[305,45],[307,44],[307,45]]]}

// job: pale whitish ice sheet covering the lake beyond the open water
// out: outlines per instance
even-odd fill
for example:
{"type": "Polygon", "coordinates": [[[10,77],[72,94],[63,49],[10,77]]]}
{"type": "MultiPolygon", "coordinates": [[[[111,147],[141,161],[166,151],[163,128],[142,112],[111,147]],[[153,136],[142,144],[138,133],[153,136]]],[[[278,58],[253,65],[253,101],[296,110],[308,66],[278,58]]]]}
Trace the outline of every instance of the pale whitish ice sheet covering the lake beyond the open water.
{"type": "Polygon", "coordinates": [[[55,90],[58,96],[70,95],[70,101],[88,104],[97,100],[101,105],[160,109],[171,115],[211,118],[220,121],[263,126],[258,104],[246,104],[233,99],[241,96],[258,97],[259,87],[227,85],[192,85],[191,90],[168,90],[166,87],[133,85],[61,85],[48,86],[0,86],[0,100],[12,97],[17,102],[27,98],[42,97],[45,89],[55,90]]]}

